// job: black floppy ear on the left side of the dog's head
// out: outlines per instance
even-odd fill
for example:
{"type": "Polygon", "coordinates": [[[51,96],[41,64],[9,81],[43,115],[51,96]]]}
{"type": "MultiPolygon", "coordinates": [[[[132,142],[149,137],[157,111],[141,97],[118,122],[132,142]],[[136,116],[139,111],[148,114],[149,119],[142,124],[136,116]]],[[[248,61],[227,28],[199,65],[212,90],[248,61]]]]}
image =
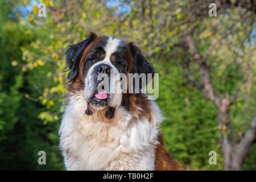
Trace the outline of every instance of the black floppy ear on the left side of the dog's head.
{"type": "Polygon", "coordinates": [[[68,73],[69,80],[72,80],[73,78],[76,77],[79,71],[79,62],[80,62],[82,53],[95,37],[96,37],[96,34],[91,32],[90,36],[87,39],[83,40],[80,43],[77,43],[75,45],[68,47],[66,51],[66,61],[67,61],[66,67],[69,68],[69,73],[68,73]]]}

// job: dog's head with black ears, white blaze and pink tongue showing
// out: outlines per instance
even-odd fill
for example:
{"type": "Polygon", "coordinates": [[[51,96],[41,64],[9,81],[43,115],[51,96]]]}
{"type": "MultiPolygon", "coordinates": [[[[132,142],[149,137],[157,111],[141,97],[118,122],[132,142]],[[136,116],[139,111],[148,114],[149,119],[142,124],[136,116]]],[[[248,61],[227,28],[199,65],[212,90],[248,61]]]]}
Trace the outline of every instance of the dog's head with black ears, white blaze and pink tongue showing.
{"type": "Polygon", "coordinates": [[[97,110],[118,107],[123,104],[124,97],[129,97],[121,92],[129,86],[127,80],[121,80],[120,73],[154,73],[152,65],[133,43],[93,33],[70,46],[66,60],[70,69],[69,91],[82,90],[86,102],[97,110]],[[110,92],[113,88],[114,92],[110,92]]]}

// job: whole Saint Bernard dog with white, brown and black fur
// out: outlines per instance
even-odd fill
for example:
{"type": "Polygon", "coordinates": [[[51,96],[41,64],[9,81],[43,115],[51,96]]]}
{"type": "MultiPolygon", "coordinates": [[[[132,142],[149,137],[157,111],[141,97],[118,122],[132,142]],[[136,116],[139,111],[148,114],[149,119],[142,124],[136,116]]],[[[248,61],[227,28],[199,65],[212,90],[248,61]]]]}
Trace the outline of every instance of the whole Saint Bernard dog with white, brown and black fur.
{"type": "Polygon", "coordinates": [[[59,135],[67,170],[183,169],[166,152],[159,133],[162,113],[147,94],[97,90],[97,76],[111,69],[126,75],[154,73],[141,49],[91,33],[69,46],[66,60],[68,98],[59,135]]]}

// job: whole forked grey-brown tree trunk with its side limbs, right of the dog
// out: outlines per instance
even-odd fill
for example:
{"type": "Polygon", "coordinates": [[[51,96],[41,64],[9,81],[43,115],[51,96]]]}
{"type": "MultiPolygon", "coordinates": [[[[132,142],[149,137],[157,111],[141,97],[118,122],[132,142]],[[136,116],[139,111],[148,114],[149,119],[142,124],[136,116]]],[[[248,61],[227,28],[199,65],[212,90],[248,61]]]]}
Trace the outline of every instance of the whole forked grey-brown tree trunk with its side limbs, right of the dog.
{"type": "Polygon", "coordinates": [[[204,96],[207,97],[218,109],[218,126],[220,127],[220,143],[224,156],[224,169],[225,170],[241,170],[243,161],[249,152],[250,147],[255,142],[256,137],[256,113],[251,121],[249,129],[246,131],[245,135],[238,142],[234,142],[232,135],[232,128],[230,126],[230,101],[229,94],[225,97],[221,97],[214,90],[214,85],[212,84],[210,78],[209,67],[207,65],[207,60],[200,54],[196,48],[195,40],[190,33],[187,33],[184,37],[184,42],[186,42],[189,53],[192,55],[193,59],[197,62],[200,69],[200,82],[192,77],[189,73],[188,65],[185,67],[186,75],[188,80],[191,81],[192,85],[200,89],[204,96]]]}

